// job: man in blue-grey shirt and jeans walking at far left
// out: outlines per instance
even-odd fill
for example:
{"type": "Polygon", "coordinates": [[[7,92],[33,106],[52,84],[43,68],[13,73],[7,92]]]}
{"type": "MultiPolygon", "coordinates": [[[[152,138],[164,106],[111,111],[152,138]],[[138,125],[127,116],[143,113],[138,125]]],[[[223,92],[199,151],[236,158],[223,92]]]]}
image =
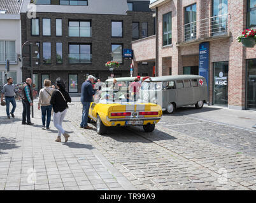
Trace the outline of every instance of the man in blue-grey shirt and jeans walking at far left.
{"type": "MultiPolygon", "coordinates": [[[[1,94],[1,102],[3,101],[3,97],[5,95],[5,101],[6,101],[6,114],[7,119],[11,119],[11,117],[15,117],[14,112],[16,108],[16,101],[15,101],[15,95],[17,95],[18,91],[15,89],[15,85],[13,84],[12,77],[7,78],[7,83],[4,84],[2,94],[1,94]],[[13,106],[11,109],[11,117],[10,117],[10,103],[13,106]]],[[[18,96],[18,100],[20,100],[20,96],[18,96]]]]}

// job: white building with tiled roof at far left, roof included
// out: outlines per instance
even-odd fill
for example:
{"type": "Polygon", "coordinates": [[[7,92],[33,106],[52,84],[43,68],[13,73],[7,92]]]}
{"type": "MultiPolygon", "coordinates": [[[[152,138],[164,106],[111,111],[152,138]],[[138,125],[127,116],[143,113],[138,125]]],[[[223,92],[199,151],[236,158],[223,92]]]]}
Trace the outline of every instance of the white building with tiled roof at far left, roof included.
{"type": "Polygon", "coordinates": [[[22,82],[20,9],[22,0],[0,1],[0,85],[6,82],[6,60],[15,83],[22,82]]]}

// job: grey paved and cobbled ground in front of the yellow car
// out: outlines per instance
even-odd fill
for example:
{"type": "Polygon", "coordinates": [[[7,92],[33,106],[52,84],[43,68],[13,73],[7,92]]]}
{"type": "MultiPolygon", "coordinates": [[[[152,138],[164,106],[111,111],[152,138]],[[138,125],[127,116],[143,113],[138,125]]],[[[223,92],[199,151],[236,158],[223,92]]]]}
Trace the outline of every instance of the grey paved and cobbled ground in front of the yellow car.
{"type": "MultiPolygon", "coordinates": [[[[0,136],[1,143],[5,143],[0,145],[0,190],[28,189],[23,187],[22,178],[27,177],[27,168],[37,165],[36,173],[42,173],[39,175],[45,182],[34,184],[36,189],[39,185],[40,189],[43,185],[48,189],[101,189],[102,185],[104,189],[122,189],[125,185],[129,189],[133,185],[138,190],[256,189],[253,131],[176,113],[164,114],[152,133],[145,133],[141,127],[110,128],[100,136],[95,124],[90,124],[92,130],[79,128],[81,112],[80,102],[69,105],[66,121],[71,122],[64,122],[64,128],[70,131],[71,139],[64,144],[53,141],[55,131],[44,134],[37,126],[21,126],[20,120],[8,123],[0,108],[1,132],[10,133],[8,138],[6,133],[0,136]],[[90,180],[98,176],[100,183],[90,180]],[[86,179],[81,181],[89,188],[80,188],[78,177],[86,179]],[[68,180],[71,185],[66,183],[68,180]]],[[[37,117],[33,121],[39,124],[39,114],[37,117]]]]}

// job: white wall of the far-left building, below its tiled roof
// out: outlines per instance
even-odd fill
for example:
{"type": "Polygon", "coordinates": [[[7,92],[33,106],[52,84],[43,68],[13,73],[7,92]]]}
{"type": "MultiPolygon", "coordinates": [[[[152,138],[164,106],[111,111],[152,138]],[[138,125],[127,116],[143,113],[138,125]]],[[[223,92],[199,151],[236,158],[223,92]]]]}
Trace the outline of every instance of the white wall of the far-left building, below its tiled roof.
{"type": "Polygon", "coordinates": [[[10,72],[15,83],[22,82],[20,15],[0,14],[0,84],[5,83],[5,60],[10,60],[10,72]]]}

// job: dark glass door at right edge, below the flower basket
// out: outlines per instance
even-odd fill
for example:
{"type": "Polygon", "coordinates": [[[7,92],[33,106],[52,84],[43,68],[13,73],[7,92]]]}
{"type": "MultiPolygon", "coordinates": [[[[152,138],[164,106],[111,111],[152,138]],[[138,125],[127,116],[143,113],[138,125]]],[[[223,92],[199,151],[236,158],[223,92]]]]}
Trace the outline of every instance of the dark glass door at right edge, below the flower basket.
{"type": "Polygon", "coordinates": [[[247,60],[246,108],[256,110],[256,59],[247,60]]]}

